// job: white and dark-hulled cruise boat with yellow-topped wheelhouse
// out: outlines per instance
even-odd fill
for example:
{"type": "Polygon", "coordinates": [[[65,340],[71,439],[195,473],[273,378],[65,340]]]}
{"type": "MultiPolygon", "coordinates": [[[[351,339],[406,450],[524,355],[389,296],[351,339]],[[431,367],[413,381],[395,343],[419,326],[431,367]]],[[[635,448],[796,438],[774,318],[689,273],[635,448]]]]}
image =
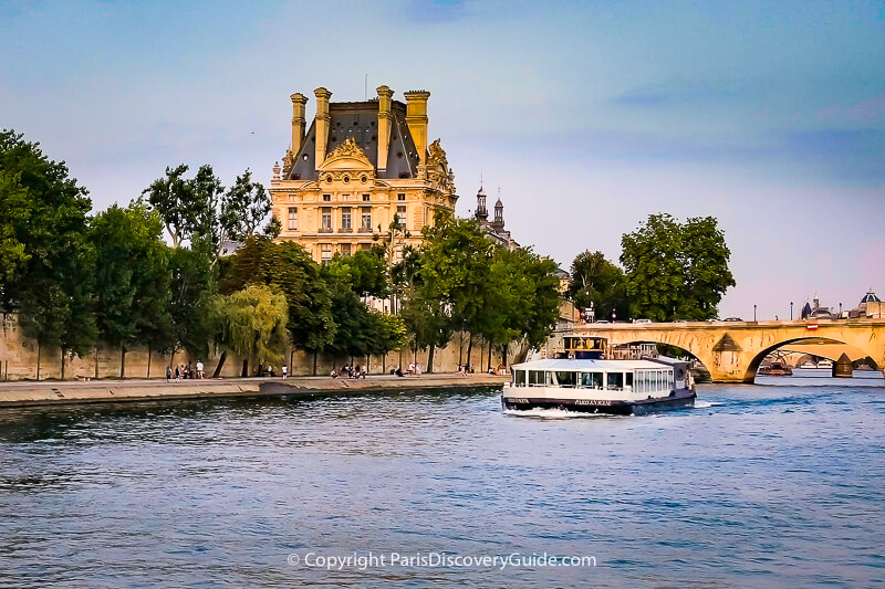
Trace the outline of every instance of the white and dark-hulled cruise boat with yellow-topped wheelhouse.
{"type": "Polygon", "coordinates": [[[605,359],[604,338],[566,336],[564,344],[556,358],[510,367],[504,409],[629,416],[695,404],[688,362],[605,359]]]}

